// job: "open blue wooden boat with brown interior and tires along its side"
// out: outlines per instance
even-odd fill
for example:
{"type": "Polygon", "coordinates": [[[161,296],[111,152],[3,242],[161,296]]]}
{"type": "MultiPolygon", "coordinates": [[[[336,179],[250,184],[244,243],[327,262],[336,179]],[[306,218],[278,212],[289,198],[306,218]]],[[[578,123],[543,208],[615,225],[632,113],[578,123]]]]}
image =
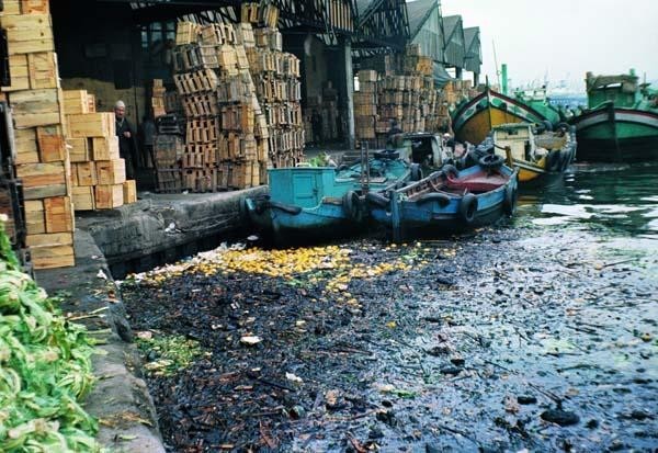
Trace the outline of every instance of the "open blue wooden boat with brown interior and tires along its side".
{"type": "Polygon", "coordinates": [[[372,218],[393,230],[394,240],[409,234],[461,231],[514,213],[518,170],[490,155],[479,165],[444,167],[401,189],[366,194],[372,218]]]}

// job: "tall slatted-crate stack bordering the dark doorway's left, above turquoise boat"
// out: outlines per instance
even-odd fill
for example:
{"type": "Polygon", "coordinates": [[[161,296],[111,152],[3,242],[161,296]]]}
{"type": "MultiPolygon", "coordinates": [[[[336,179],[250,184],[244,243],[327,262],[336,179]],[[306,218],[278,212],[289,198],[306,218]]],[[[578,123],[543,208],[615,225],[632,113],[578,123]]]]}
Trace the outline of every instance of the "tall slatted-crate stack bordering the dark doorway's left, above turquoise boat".
{"type": "MultiPolygon", "coordinates": [[[[242,24],[256,25],[256,46],[245,46],[259,104],[264,113],[258,129],[268,136],[269,163],[291,167],[304,157],[304,122],[299,59],[282,50],[279,11],[264,3],[243,3],[242,24]]],[[[264,169],[261,168],[261,171],[264,169]]]]}

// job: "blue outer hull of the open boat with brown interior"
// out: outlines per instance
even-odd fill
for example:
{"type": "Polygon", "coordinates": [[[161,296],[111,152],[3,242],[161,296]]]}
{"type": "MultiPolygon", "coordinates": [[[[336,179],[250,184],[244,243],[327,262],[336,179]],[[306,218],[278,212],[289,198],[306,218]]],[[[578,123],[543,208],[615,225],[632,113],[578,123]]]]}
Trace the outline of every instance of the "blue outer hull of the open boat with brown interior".
{"type": "MultiPolygon", "coordinates": [[[[401,236],[460,233],[494,224],[504,215],[513,213],[517,199],[517,172],[507,167],[502,167],[501,170],[504,171],[507,182],[494,190],[473,194],[470,199],[467,199],[466,195],[451,194],[447,196],[447,202],[441,200],[420,202],[411,200],[396,201],[396,197],[392,196],[389,205],[371,205],[371,217],[376,223],[394,229],[394,233],[396,228],[400,228],[401,236]],[[466,200],[472,202],[473,199],[476,200],[476,207],[468,215],[468,218],[465,218],[462,204],[467,203],[466,200]],[[397,206],[395,206],[395,203],[397,203],[397,206]]],[[[462,170],[460,178],[477,171],[486,172],[487,170],[474,166],[462,170]]]]}

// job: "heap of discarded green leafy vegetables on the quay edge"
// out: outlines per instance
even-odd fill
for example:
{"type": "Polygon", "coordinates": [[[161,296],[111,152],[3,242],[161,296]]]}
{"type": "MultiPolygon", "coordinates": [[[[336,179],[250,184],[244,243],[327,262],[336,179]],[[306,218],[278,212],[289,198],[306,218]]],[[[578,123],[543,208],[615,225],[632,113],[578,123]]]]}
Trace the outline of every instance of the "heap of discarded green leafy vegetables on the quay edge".
{"type": "Polygon", "coordinates": [[[100,452],[80,406],[93,346],[25,273],[0,222],[0,452],[100,452]]]}

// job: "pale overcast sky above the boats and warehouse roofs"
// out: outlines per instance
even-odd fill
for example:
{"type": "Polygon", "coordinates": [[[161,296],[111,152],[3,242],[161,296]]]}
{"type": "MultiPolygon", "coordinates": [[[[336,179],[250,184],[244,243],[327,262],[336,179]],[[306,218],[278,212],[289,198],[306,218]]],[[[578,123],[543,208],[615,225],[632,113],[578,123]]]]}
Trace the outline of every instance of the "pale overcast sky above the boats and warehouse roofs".
{"type": "Polygon", "coordinates": [[[441,10],[461,14],[465,27],[480,27],[483,81],[485,75],[496,80],[494,42],[513,87],[546,78],[548,87],[569,80],[585,91],[587,71],[631,68],[658,81],[656,0],[441,0],[441,10]]]}

